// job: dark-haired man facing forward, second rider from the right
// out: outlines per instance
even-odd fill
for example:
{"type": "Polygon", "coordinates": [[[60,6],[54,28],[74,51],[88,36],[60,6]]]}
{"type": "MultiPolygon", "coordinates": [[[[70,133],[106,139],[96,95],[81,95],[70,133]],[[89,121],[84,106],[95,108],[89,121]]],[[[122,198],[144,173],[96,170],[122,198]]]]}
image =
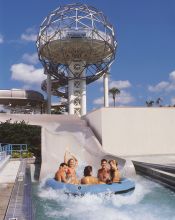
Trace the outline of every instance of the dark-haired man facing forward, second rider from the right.
{"type": "Polygon", "coordinates": [[[101,169],[98,170],[97,174],[99,183],[109,183],[110,181],[110,169],[108,168],[107,160],[101,160],[101,169]]]}

